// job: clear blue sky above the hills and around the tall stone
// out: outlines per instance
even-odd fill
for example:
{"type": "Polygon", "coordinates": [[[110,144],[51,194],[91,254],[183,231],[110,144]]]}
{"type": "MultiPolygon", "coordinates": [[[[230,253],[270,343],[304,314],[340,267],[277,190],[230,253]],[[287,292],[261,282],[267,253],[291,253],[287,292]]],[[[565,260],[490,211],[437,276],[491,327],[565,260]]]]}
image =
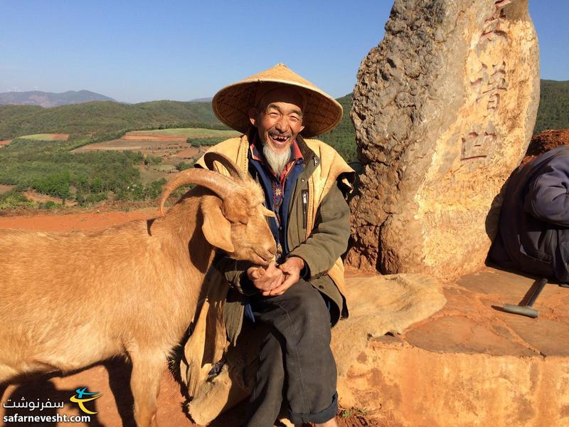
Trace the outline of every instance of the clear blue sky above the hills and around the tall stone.
{"type": "MultiPolygon", "coordinates": [[[[284,62],[340,97],[381,41],[392,4],[0,0],[0,92],[191,100],[284,62]]],[[[541,78],[569,80],[569,0],[530,0],[529,8],[541,78]]]]}

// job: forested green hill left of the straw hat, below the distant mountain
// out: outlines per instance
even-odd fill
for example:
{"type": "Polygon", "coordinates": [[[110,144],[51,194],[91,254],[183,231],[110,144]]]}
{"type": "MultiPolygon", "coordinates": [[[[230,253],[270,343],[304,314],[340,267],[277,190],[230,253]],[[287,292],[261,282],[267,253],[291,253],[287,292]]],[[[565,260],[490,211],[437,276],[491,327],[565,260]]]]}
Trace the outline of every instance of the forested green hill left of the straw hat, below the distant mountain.
{"type": "Polygon", "coordinates": [[[99,139],[128,130],[196,126],[227,129],[217,120],[209,102],[86,102],[53,108],[0,105],[0,139],[36,133],[99,139]]]}

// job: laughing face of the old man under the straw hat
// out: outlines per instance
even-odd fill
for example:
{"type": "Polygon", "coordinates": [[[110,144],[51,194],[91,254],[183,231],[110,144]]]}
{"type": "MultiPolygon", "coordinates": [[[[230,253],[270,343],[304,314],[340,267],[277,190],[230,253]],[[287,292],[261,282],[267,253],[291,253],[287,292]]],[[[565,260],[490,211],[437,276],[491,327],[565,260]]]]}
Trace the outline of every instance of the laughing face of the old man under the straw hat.
{"type": "Polygon", "coordinates": [[[302,97],[290,88],[276,88],[263,95],[257,107],[249,110],[249,120],[257,127],[262,143],[274,152],[288,152],[292,140],[304,129],[302,105],[302,97]]]}

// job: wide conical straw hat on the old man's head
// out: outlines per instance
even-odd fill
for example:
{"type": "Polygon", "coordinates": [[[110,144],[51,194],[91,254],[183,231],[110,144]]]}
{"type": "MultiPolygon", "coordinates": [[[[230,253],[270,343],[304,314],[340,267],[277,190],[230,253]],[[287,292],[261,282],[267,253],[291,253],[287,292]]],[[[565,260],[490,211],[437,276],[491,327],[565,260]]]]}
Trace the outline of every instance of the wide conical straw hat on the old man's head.
{"type": "Polygon", "coordinates": [[[262,85],[274,86],[274,83],[293,86],[303,95],[306,107],[302,117],[304,130],[301,135],[304,137],[327,132],[341,120],[342,106],[338,101],[283,63],[225,86],[211,101],[213,112],[225,125],[246,133],[251,126],[249,109],[255,107],[257,90],[262,90],[262,85]]]}

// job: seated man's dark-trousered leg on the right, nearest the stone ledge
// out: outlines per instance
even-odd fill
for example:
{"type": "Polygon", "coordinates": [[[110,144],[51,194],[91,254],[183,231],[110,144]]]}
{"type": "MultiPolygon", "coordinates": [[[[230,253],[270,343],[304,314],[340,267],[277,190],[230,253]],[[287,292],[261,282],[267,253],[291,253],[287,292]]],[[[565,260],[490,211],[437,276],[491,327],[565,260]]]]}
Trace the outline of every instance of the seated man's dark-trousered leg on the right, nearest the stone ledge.
{"type": "MultiPolygon", "coordinates": [[[[334,418],[336,363],[330,349],[330,316],[318,290],[301,279],[282,295],[253,298],[252,308],[257,320],[282,337],[281,359],[272,363],[285,362],[291,421],[326,423],[334,418]]],[[[267,419],[263,425],[274,421],[267,419]]]]}

